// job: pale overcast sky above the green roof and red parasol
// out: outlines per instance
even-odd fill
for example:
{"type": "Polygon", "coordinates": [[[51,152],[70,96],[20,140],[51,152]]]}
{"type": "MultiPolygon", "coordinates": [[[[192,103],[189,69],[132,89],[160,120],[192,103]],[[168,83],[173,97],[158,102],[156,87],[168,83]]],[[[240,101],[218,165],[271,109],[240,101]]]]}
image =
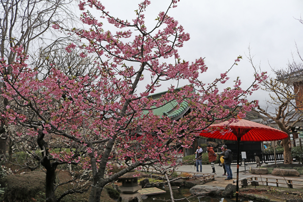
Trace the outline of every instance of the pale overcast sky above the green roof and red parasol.
{"type": "MultiPolygon", "coordinates": [[[[139,2],[111,0],[103,4],[113,16],[131,21],[139,2]]],[[[169,2],[151,0],[145,13],[147,28],[155,24],[157,14],[165,11],[169,2]]],[[[245,57],[248,46],[255,64],[260,64],[262,71],[272,76],[271,67],[286,67],[288,60],[292,60],[292,53],[298,61],[295,43],[303,55],[303,25],[296,20],[302,13],[301,0],[181,0],[168,15],[178,20],[191,37],[179,51],[181,58],[187,61],[205,58],[209,70],[201,75],[201,79],[205,82],[214,80],[241,55],[243,60],[229,76],[231,81],[240,76],[242,82],[248,85],[254,74],[245,57]]],[[[266,97],[266,92],[258,91],[249,99],[259,99],[260,105],[264,106],[266,97]]]]}

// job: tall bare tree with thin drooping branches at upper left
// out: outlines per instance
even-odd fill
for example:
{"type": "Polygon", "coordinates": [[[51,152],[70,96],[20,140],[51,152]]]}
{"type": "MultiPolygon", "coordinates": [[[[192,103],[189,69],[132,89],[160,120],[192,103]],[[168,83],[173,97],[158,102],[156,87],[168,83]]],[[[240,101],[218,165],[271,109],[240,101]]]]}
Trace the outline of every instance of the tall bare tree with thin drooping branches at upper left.
{"type": "MultiPolygon", "coordinates": [[[[0,57],[11,65],[15,62],[17,53],[13,47],[22,47],[30,63],[39,58],[43,46],[61,43],[65,36],[53,40],[51,29],[53,23],[71,23],[74,21],[73,12],[69,9],[70,0],[37,1],[37,0],[7,0],[1,2],[0,9],[0,57]]],[[[12,74],[12,68],[4,71],[12,74]]],[[[0,83],[1,88],[5,85],[0,83]]],[[[1,108],[5,108],[8,100],[1,98],[1,108]]],[[[0,126],[0,154],[5,154],[7,134],[6,121],[2,119],[0,126]]]]}

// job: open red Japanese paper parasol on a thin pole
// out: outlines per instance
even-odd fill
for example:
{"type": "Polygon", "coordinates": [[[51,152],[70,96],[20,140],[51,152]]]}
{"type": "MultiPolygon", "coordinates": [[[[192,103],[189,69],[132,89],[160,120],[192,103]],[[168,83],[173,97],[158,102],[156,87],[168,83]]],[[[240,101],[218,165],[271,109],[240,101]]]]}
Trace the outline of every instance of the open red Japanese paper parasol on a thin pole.
{"type": "Polygon", "coordinates": [[[225,121],[218,124],[212,124],[208,129],[209,131],[201,132],[200,136],[237,141],[236,201],[238,201],[240,141],[274,141],[288,138],[288,134],[281,130],[244,119],[237,119],[237,122],[233,123],[225,121]]]}

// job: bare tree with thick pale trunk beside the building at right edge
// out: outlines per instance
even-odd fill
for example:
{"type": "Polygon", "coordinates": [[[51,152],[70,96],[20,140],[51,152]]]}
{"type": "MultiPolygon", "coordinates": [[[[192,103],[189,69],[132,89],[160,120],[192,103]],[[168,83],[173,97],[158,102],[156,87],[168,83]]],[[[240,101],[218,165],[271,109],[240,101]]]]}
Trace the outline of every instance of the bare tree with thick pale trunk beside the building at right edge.
{"type": "MultiPolygon", "coordinates": [[[[269,105],[276,107],[275,113],[258,106],[256,112],[267,116],[275,121],[279,128],[290,134],[296,123],[303,119],[303,65],[299,53],[300,62],[294,60],[289,62],[286,68],[273,70],[275,77],[270,77],[262,82],[263,89],[269,92],[269,105]]],[[[251,61],[251,60],[250,60],[251,61]]],[[[252,61],[251,61],[252,64],[252,61]]],[[[281,145],[284,147],[284,163],[291,164],[291,143],[290,138],[283,139],[281,145]]]]}

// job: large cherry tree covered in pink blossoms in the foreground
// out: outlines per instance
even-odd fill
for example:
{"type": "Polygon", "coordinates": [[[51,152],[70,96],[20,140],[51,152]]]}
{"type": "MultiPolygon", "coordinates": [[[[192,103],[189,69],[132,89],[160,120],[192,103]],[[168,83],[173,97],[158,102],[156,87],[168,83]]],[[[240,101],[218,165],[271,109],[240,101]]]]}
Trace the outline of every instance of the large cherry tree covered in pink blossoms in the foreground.
{"type": "MultiPolygon", "coordinates": [[[[89,201],[100,201],[103,187],[136,168],[153,166],[164,171],[176,165],[178,151],[168,145],[188,147],[199,131],[210,124],[256,107],[246,96],[259,88],[265,74],[256,74],[247,89],[240,87],[239,78],[232,87],[219,90],[229,78],[228,71],[214,82],[205,84],[199,75],[207,71],[202,58],[194,62],[181,59],[178,49],[189,40],[174,18],[168,16],[177,1],[172,0],[165,12],[160,12],[156,25],[145,26],[144,12],[149,1],[139,4],[132,22],[113,17],[97,1],[80,2],[80,10],[93,8],[102,20],[114,26],[115,33],[104,30],[104,22],[92,13],[82,13],[81,20],[89,29],[71,29],[69,32],[87,41],[77,46],[70,43],[67,52],[80,49],[80,57],[94,56],[97,71],[82,75],[68,75],[59,64],[50,64],[48,73],[39,79],[37,69],[30,68],[22,46],[12,47],[16,62],[1,61],[1,76],[6,88],[3,96],[9,100],[2,117],[10,124],[22,127],[17,136],[30,135],[40,140],[40,157],[36,158],[46,168],[46,201],[55,197],[54,169],[59,164],[76,164],[91,170],[92,186],[89,201]],[[12,69],[12,74],[6,70],[12,69]],[[150,79],[148,78],[150,77],[150,79]],[[186,80],[188,85],[170,86],[167,93],[154,99],[152,94],[170,80],[186,80]],[[154,110],[167,107],[172,102],[174,110],[184,103],[190,107],[178,120],[154,114],[154,110]],[[45,138],[56,135],[69,150],[56,153],[45,144],[45,138]],[[73,149],[75,146],[79,149],[73,149]],[[114,160],[129,160],[128,166],[112,173],[114,160]],[[50,167],[49,167],[50,165],[50,167]],[[49,169],[48,169],[49,167],[49,169]]],[[[53,26],[62,29],[60,24],[53,26]]],[[[234,64],[237,65],[241,57],[234,64]]],[[[38,156],[38,155],[36,155],[38,156]]]]}

